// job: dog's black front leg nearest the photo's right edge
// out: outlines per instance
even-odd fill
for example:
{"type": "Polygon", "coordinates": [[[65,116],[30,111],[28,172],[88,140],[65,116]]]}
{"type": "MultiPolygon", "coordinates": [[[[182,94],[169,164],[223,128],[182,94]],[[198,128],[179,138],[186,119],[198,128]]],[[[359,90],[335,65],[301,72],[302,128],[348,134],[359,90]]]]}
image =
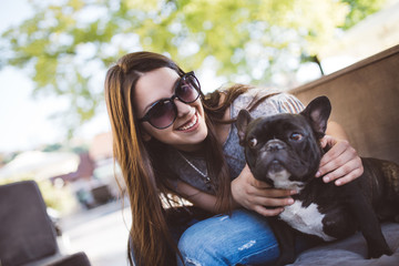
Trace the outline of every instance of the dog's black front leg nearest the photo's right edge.
{"type": "Polygon", "coordinates": [[[357,186],[356,181],[344,185],[342,190],[349,208],[367,241],[369,258],[378,258],[383,254],[391,255],[392,252],[382,235],[377,215],[359,186],[357,186]]]}

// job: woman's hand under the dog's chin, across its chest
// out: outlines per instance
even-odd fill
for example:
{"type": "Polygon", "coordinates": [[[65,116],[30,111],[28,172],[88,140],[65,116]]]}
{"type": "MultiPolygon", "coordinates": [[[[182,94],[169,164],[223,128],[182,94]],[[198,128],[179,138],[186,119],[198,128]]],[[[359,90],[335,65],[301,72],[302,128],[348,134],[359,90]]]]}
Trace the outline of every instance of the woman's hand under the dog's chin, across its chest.
{"type": "Polygon", "coordinates": [[[270,188],[262,181],[255,180],[248,165],[232,182],[232,195],[241,206],[255,211],[264,216],[275,216],[284,211],[284,206],[294,203],[289,197],[295,191],[270,188]]]}

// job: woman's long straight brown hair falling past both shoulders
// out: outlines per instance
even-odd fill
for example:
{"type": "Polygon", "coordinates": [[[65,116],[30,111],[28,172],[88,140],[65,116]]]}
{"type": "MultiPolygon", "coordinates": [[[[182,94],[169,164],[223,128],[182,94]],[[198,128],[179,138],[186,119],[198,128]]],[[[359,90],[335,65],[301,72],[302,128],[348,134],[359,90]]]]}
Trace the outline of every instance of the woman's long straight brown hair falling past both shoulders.
{"type": "MultiPolygon", "coordinates": [[[[134,89],[140,76],[149,71],[170,68],[178,75],[184,71],[168,58],[152,53],[136,52],[122,57],[111,66],[105,79],[105,101],[112,126],[113,153],[125,182],[132,214],[132,227],[127,254],[131,264],[171,265],[180,252],[170,235],[165,212],[160,196],[171,200],[175,194],[168,183],[174,178],[164,164],[163,154],[166,145],[153,140],[144,142],[142,127],[134,114],[134,89]]],[[[204,141],[205,160],[208,173],[215,181],[217,208],[228,212],[231,187],[228,167],[223,155],[223,146],[217,142],[215,123],[223,123],[226,109],[246,86],[234,86],[227,91],[225,100],[219,103],[219,93],[201,94],[205,110],[205,122],[208,135],[204,141]],[[212,162],[212,163],[211,163],[212,162]]],[[[172,201],[172,200],[171,200],[172,201]]],[[[171,202],[170,202],[171,203],[171,202]]],[[[172,205],[172,204],[170,204],[172,205]]]]}

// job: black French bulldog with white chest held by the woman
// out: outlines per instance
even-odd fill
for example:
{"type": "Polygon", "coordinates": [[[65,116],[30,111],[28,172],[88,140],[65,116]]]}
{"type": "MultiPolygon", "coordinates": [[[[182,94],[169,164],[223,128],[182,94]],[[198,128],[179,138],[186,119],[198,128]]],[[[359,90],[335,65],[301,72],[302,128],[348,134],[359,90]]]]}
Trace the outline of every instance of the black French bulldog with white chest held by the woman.
{"type": "Polygon", "coordinates": [[[269,219],[280,248],[276,265],[295,260],[294,229],[325,242],[361,231],[370,258],[391,255],[379,222],[398,218],[399,166],[361,158],[364,174],[348,184],[336,186],[316,178],[325,153],[319,141],[330,112],[328,98],[320,96],[299,114],[252,119],[246,110],[238,113],[239,143],[254,177],[276,188],[298,192],[293,205],[269,219]]]}

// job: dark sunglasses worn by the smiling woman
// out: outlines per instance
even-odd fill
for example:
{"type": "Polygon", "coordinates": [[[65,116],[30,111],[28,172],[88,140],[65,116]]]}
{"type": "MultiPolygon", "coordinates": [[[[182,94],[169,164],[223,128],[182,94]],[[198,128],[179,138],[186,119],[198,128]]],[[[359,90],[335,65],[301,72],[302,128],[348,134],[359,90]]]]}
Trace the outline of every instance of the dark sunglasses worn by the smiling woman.
{"type": "Polygon", "coordinates": [[[198,99],[200,91],[201,85],[194,71],[185,73],[176,83],[174,94],[154,102],[144,116],[139,119],[139,122],[149,122],[158,130],[171,126],[177,117],[177,106],[174,100],[177,98],[181,102],[193,103],[198,99]]]}

